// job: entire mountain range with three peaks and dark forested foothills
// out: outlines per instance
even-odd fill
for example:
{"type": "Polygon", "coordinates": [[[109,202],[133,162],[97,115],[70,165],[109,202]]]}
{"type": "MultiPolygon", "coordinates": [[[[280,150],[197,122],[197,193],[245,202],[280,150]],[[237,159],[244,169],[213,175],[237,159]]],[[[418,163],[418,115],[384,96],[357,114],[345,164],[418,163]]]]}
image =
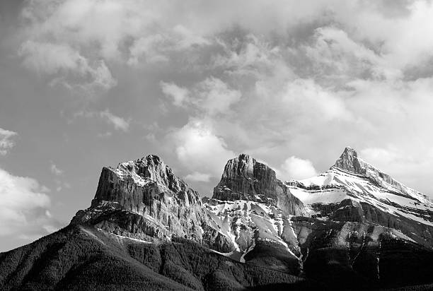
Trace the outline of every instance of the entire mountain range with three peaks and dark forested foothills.
{"type": "Polygon", "coordinates": [[[103,167],[70,224],[0,254],[1,290],[430,290],[432,198],[347,147],[282,182],[250,155],[212,198],[156,155],[103,167]]]}

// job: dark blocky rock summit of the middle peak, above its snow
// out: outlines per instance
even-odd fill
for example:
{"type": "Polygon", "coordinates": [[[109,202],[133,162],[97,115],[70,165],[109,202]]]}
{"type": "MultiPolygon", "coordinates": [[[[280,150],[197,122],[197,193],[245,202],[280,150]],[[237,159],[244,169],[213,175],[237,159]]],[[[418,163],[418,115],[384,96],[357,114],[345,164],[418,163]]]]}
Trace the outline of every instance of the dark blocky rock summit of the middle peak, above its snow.
{"type": "Polygon", "coordinates": [[[285,215],[308,215],[304,204],[291,195],[274,170],[246,154],[226,163],[212,198],[270,203],[281,208],[285,215]]]}

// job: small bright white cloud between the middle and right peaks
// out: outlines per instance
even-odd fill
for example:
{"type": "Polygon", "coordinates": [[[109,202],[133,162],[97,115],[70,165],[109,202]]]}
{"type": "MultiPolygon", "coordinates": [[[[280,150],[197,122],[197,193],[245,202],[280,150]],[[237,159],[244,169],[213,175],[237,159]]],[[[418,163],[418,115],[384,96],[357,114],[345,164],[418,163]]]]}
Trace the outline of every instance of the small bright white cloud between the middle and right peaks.
{"type": "Polygon", "coordinates": [[[306,179],[314,177],[317,174],[317,171],[310,160],[296,158],[293,155],[284,160],[280,168],[281,171],[279,172],[279,175],[284,180],[306,179]]]}

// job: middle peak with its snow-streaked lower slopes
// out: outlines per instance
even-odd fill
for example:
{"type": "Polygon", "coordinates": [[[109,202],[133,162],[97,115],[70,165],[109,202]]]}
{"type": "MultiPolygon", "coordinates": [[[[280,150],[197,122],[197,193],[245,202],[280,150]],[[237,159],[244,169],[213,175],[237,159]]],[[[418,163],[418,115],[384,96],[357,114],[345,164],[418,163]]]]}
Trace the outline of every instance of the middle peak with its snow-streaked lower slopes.
{"type": "Polygon", "coordinates": [[[226,163],[213,197],[203,201],[214,228],[233,239],[232,259],[299,273],[301,252],[290,217],[309,216],[311,208],[274,170],[241,154],[226,163]]]}

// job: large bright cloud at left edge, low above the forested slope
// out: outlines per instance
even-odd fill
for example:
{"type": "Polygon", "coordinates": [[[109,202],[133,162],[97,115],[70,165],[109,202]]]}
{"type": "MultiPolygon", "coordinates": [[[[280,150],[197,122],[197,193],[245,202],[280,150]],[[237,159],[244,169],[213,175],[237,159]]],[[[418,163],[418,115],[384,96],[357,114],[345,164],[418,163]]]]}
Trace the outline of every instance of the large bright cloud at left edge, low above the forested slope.
{"type": "Polygon", "coordinates": [[[47,234],[44,227],[58,223],[47,215],[50,197],[47,188],[32,178],[17,177],[0,169],[0,237],[47,234]]]}

